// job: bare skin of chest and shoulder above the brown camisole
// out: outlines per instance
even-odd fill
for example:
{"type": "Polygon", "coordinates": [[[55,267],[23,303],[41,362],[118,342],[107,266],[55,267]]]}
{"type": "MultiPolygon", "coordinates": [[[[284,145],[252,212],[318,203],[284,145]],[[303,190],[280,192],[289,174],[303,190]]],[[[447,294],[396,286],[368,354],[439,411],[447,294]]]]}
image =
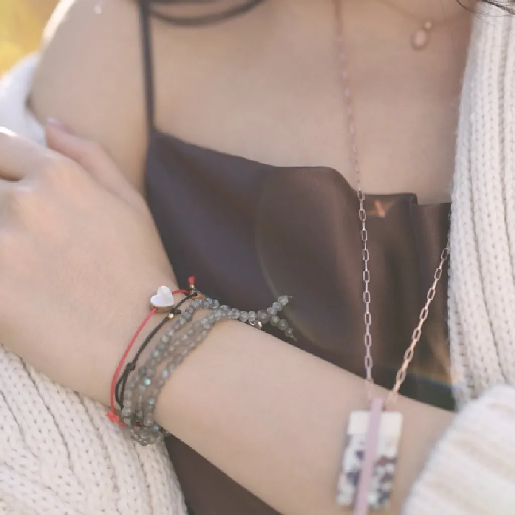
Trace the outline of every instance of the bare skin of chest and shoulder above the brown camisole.
{"type": "MultiPolygon", "coordinates": [[[[404,6],[421,18],[463,11],[454,0],[404,6]]],[[[437,26],[414,53],[416,22],[373,0],[344,11],[365,191],[448,200],[469,17],[437,26]]],[[[154,23],[158,127],[265,163],[331,166],[355,184],[333,27],[332,3],[309,0],[268,2],[206,28],[154,23]]],[[[36,75],[38,115],[104,143],[141,187],[143,98],[137,7],[115,0],[96,15],[77,0],[36,75]]]]}

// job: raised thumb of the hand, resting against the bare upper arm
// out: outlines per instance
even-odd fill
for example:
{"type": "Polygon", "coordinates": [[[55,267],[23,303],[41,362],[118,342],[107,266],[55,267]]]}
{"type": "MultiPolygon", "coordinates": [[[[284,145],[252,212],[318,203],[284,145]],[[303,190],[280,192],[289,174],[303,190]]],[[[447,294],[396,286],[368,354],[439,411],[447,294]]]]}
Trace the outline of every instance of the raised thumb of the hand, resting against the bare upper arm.
{"type": "Polygon", "coordinates": [[[95,182],[131,205],[140,195],[134,190],[108,152],[98,143],[74,134],[61,122],[49,118],[46,125],[48,148],[78,163],[95,182]]]}

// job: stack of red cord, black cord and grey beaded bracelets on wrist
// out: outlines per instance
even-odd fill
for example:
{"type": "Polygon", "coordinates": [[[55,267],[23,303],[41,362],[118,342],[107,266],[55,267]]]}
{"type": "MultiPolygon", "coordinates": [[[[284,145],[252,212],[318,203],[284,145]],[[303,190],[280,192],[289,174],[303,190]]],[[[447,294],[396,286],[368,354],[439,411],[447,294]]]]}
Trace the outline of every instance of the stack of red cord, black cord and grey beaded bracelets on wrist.
{"type": "Polygon", "coordinates": [[[270,323],[283,331],[288,338],[294,337],[287,320],[278,316],[288,304],[289,297],[279,297],[266,310],[246,312],[220,305],[218,300],[204,297],[196,289],[194,277],[188,282],[189,290],[171,292],[164,286],[158,289],[158,294],[151,299],[152,310],[149,316],[134,335],[113,377],[111,410],[107,416],[111,421],[127,427],[131,438],[142,445],[157,443],[167,436],[168,433],[154,417],[159,393],[173,371],[205,340],[218,322],[238,320],[259,330],[264,324],[270,323]],[[184,294],[185,297],[175,305],[174,294],[184,294]],[[181,310],[183,306],[185,307],[181,310]],[[194,320],[195,313],[200,310],[208,310],[208,314],[194,320]],[[151,315],[157,312],[165,312],[164,318],[150,331],[132,361],[122,371],[134,341],[151,315]],[[159,338],[146,361],[139,364],[143,351],[167,322],[171,322],[171,327],[159,338]],[[115,401],[118,409],[115,408],[115,401]]]}

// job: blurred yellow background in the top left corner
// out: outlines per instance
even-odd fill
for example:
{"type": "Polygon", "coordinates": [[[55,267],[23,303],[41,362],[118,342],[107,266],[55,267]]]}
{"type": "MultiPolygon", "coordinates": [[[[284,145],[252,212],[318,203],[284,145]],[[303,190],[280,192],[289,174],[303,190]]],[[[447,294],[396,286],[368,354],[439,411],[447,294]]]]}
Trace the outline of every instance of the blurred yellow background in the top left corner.
{"type": "Polygon", "coordinates": [[[36,50],[58,0],[0,0],[0,75],[36,50]]]}

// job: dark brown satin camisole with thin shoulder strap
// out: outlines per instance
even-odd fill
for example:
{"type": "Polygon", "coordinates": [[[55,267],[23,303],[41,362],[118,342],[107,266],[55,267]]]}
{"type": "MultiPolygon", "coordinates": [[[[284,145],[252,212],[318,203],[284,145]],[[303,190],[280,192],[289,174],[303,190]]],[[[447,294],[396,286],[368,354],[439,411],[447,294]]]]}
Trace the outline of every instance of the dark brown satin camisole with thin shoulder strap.
{"type": "MultiPolygon", "coordinates": [[[[146,195],[179,284],[194,274],[203,293],[247,311],[291,295],[286,317],[297,340],[288,344],[363,375],[355,191],[331,168],[271,166],[160,133],[153,124],[143,4],[141,15],[149,121],[146,195]]],[[[366,210],[374,378],[391,388],[447,239],[449,204],[419,205],[411,194],[369,195],[366,210]]],[[[446,290],[443,279],[401,392],[452,409],[446,290]]],[[[169,438],[167,448],[191,515],[277,515],[178,439],[169,438]]]]}

